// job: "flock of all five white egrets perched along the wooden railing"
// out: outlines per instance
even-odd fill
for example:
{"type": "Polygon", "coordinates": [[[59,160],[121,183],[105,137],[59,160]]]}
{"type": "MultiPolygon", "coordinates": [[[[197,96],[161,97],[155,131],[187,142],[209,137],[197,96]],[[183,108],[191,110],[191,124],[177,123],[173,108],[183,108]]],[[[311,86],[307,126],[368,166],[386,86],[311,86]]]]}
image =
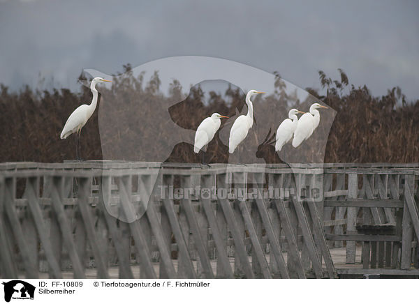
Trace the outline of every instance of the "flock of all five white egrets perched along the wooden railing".
{"type": "MultiPolygon", "coordinates": [[[[78,137],[76,138],[76,155],[77,159],[80,159],[80,132],[83,126],[87,123],[91,115],[96,109],[98,101],[98,91],[96,90],[96,84],[99,82],[111,82],[110,80],[105,80],[101,77],[95,77],[90,84],[91,93],[93,93],[93,99],[91,100],[90,105],[80,105],[73,113],[68,117],[66,124],[61,132],[61,139],[66,139],[69,135],[77,133],[78,137]]],[[[228,139],[228,152],[234,153],[237,146],[247,137],[247,133],[253,126],[253,103],[251,102],[251,96],[262,94],[265,92],[260,92],[256,90],[250,90],[246,96],[247,104],[247,115],[240,115],[237,117],[233,126],[230,130],[230,138],[228,139]]],[[[293,147],[297,148],[300,144],[308,139],[318,127],[320,123],[320,113],[318,108],[325,108],[323,105],[314,103],[311,105],[309,112],[301,112],[297,109],[291,109],[288,112],[288,119],[282,121],[277,130],[275,151],[281,151],[282,147],[288,143],[291,138],[293,138],[293,147]],[[303,114],[300,119],[298,119],[297,114],[303,114]]],[[[205,151],[203,147],[209,144],[216,131],[219,130],[221,126],[221,118],[228,119],[228,116],[223,116],[218,113],[212,114],[210,117],[204,119],[198,126],[195,134],[195,142],[193,145],[193,151],[199,153],[203,151],[203,164],[205,164],[205,151]]]]}

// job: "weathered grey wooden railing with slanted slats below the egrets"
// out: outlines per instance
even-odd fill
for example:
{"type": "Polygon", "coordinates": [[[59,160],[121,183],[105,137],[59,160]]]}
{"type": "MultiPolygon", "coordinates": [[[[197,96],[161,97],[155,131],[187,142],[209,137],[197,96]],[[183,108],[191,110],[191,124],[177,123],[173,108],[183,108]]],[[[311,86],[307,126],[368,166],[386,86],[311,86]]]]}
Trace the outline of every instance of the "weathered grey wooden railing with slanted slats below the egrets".
{"type": "Polygon", "coordinates": [[[418,164],[5,163],[0,277],[419,275],[418,176],[418,164]]]}

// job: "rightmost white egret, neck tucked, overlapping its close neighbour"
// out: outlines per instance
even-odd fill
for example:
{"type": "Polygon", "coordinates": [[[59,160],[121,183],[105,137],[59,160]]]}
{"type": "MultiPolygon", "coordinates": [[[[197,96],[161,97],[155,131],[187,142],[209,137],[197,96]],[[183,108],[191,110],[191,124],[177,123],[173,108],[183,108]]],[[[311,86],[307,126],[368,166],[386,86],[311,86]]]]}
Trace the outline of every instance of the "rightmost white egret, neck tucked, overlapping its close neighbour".
{"type": "Polygon", "coordinates": [[[306,113],[300,117],[297,123],[297,129],[294,132],[293,147],[297,148],[300,146],[303,140],[308,139],[313,131],[316,130],[318,123],[320,123],[320,113],[318,108],[323,107],[328,109],[324,105],[314,103],[310,107],[309,113],[306,113]]]}

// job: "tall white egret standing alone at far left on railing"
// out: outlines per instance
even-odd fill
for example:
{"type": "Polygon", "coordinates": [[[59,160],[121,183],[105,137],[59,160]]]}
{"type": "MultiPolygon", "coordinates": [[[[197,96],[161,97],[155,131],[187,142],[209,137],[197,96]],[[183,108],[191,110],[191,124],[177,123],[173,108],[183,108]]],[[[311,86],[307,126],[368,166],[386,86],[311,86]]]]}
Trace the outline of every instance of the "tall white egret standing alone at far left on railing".
{"type": "Polygon", "coordinates": [[[77,109],[74,110],[73,113],[71,113],[70,116],[68,116],[68,119],[66,121],[66,124],[64,125],[64,128],[61,132],[60,138],[66,139],[69,135],[77,132],[78,137],[76,138],[75,142],[75,153],[76,158],[80,160],[80,133],[82,132],[83,126],[87,123],[91,115],[94,113],[94,110],[96,109],[96,105],[98,102],[98,91],[96,90],[96,84],[98,82],[111,82],[110,80],[105,80],[101,77],[95,77],[90,84],[90,90],[91,93],[93,93],[93,98],[91,100],[90,105],[80,105],[77,109]]]}

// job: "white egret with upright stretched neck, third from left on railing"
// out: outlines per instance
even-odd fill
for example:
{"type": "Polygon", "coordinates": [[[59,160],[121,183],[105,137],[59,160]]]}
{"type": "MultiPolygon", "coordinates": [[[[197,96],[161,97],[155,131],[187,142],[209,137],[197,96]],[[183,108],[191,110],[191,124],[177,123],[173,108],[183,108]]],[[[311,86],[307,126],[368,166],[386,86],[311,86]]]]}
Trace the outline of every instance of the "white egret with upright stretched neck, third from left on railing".
{"type": "Polygon", "coordinates": [[[249,93],[247,93],[247,115],[240,115],[237,117],[230,130],[230,139],[228,140],[228,152],[230,154],[233,153],[240,142],[246,138],[247,133],[253,126],[253,103],[250,100],[251,96],[263,93],[265,92],[255,90],[250,90],[249,93]]]}

